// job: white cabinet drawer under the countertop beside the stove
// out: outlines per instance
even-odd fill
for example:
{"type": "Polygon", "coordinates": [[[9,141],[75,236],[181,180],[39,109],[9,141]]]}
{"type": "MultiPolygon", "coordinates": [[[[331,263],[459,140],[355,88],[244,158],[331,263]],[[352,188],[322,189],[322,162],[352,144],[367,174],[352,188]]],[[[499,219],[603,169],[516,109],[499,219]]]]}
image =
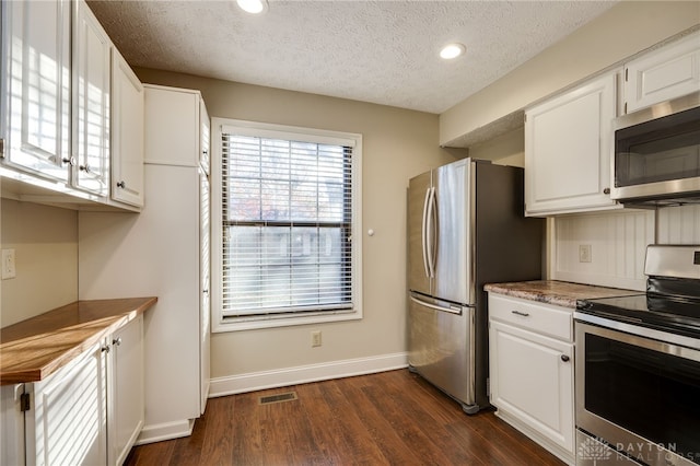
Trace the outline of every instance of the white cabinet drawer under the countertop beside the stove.
{"type": "Polygon", "coordinates": [[[489,318],[573,341],[573,310],[489,293],[489,318]]]}

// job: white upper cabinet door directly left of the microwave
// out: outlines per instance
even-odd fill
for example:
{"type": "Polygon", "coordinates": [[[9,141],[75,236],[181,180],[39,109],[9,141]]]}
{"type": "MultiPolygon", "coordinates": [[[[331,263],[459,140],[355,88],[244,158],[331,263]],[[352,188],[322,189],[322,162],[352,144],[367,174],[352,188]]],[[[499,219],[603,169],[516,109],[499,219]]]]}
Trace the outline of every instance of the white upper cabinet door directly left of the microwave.
{"type": "Polygon", "coordinates": [[[610,200],[616,74],[606,74],[526,113],[528,215],[600,210],[610,200]]]}

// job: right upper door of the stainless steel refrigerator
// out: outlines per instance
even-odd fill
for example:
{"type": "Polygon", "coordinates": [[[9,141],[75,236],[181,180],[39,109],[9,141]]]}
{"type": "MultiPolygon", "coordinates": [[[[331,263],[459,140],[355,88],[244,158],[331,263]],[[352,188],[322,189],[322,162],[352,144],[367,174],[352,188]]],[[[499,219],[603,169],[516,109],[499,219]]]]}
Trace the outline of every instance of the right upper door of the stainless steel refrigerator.
{"type": "Polygon", "coordinates": [[[434,171],[434,206],[429,229],[434,232],[432,295],[455,303],[475,304],[472,270],[472,163],[460,160],[434,171]]]}

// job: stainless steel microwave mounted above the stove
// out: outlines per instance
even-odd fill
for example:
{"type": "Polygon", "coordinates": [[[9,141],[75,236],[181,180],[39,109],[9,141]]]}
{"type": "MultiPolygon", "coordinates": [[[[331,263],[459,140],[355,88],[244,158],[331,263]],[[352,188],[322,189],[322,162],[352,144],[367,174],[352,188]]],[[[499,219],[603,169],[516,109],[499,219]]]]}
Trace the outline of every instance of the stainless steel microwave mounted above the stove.
{"type": "Polygon", "coordinates": [[[610,198],[622,203],[700,203],[700,92],[614,123],[610,198]]]}

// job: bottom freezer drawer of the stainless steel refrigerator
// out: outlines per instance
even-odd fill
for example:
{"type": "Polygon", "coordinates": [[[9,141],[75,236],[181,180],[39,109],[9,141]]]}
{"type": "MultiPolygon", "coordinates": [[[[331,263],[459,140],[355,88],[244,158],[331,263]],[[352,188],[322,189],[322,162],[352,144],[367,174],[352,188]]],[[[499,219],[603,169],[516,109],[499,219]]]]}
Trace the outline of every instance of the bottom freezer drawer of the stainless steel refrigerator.
{"type": "Polygon", "coordinates": [[[465,408],[474,397],[474,308],[409,295],[408,362],[465,408]]]}

